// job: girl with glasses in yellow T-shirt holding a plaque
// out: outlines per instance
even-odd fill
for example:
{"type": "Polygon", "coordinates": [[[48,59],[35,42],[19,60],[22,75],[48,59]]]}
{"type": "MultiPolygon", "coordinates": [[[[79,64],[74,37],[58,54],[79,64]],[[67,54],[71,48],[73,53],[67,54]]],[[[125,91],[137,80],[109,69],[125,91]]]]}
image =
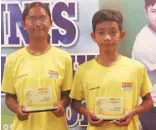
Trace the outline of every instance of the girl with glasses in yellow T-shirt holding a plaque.
{"type": "Polygon", "coordinates": [[[6,105],[16,114],[12,130],[67,130],[64,109],[70,102],[71,56],[49,43],[53,22],[48,6],[30,3],[22,20],[29,45],[7,57],[2,81],[6,105]],[[35,112],[40,108],[45,109],[35,112]]]}

